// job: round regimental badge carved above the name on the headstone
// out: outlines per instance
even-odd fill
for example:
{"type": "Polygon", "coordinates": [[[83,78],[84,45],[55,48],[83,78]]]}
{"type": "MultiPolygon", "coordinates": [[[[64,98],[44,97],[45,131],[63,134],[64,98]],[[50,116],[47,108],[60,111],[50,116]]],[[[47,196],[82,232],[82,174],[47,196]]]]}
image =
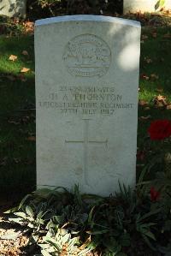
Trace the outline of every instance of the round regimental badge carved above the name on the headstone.
{"type": "Polygon", "coordinates": [[[63,60],[68,72],[74,76],[103,76],[109,69],[109,45],[96,35],[81,34],[65,47],[63,60]]]}

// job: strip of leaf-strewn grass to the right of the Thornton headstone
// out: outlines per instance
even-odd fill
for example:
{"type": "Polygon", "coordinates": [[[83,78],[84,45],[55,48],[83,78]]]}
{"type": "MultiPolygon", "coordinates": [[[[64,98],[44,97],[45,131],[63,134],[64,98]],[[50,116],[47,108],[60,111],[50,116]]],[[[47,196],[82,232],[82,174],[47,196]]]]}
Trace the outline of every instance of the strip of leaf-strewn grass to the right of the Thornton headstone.
{"type": "Polygon", "coordinates": [[[167,103],[171,102],[171,37],[165,38],[166,34],[171,35],[171,27],[144,28],[142,34],[146,39],[141,44],[139,99],[144,100],[149,108],[146,108],[146,105],[139,106],[138,146],[143,143],[151,120],[171,117],[171,110],[156,108],[154,104],[154,98],[160,94],[166,97],[167,103]],[[150,63],[147,63],[147,60],[150,63]],[[144,75],[150,79],[143,79],[144,75]],[[141,119],[141,116],[150,118],[145,120],[141,119]]]}

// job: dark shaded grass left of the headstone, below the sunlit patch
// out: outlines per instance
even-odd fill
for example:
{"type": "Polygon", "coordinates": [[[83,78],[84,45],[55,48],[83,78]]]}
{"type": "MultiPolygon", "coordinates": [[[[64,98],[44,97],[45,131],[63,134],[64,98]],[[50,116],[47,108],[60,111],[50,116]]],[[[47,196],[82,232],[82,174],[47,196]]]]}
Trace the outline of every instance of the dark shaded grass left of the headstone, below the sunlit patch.
{"type": "Polygon", "coordinates": [[[35,189],[36,146],[34,86],[21,81],[0,82],[0,190],[23,196],[35,189]]]}

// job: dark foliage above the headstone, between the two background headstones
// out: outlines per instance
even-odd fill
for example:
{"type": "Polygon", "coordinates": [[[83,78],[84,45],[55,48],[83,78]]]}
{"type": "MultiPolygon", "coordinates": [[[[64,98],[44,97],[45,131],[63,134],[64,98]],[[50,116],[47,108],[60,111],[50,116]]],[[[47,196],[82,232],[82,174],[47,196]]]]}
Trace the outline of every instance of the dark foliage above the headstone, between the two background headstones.
{"type": "Polygon", "coordinates": [[[56,15],[122,13],[122,0],[28,0],[29,16],[33,19],[56,15]]]}

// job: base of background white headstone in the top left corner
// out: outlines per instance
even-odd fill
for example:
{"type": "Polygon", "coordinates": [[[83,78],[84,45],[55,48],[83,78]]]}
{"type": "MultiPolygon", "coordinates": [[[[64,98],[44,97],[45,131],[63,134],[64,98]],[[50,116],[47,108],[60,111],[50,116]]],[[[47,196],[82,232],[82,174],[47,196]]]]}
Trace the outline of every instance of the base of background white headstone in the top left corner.
{"type": "Polygon", "coordinates": [[[27,0],[0,0],[0,15],[25,17],[27,0]]]}

